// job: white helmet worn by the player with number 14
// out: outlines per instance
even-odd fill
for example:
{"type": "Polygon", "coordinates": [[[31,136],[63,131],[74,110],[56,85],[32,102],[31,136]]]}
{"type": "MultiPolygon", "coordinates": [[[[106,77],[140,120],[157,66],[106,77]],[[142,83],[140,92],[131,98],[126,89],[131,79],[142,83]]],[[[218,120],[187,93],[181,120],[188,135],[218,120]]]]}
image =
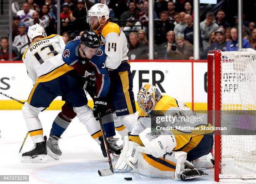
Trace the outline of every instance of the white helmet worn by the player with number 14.
{"type": "Polygon", "coordinates": [[[90,10],[88,11],[88,16],[89,17],[97,16],[99,19],[99,22],[102,16],[105,16],[106,20],[108,20],[109,18],[108,6],[105,4],[97,3],[90,8],[90,10]]]}

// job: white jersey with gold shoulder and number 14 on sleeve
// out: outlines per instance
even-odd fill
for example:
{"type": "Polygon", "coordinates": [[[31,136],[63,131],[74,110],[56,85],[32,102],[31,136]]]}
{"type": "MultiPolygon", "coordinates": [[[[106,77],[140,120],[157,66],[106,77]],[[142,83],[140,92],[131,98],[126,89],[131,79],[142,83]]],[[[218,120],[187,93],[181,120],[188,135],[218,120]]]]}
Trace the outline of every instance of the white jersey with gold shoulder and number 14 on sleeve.
{"type": "Polygon", "coordinates": [[[122,61],[128,60],[128,41],[125,34],[115,23],[107,23],[100,34],[102,42],[105,44],[105,53],[107,59],[105,65],[107,68],[116,69],[122,61]]]}

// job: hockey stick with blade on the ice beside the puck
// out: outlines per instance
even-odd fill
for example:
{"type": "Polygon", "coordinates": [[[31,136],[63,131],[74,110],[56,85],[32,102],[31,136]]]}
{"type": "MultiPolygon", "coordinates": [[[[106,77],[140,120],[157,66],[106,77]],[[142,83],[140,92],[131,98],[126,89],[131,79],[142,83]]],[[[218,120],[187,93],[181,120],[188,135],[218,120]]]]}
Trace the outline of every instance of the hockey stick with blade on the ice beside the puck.
{"type": "Polygon", "coordinates": [[[109,169],[100,169],[100,170],[98,170],[98,173],[99,173],[100,176],[109,176],[109,175],[114,174],[114,170],[113,170],[112,161],[111,161],[111,157],[110,157],[110,153],[109,153],[109,149],[108,149],[107,136],[105,134],[105,131],[104,131],[103,125],[102,125],[101,113],[99,113],[98,116],[99,116],[100,129],[102,131],[103,141],[104,141],[105,148],[106,148],[106,151],[107,151],[107,154],[108,154],[108,163],[109,163],[109,166],[110,166],[109,169]]]}

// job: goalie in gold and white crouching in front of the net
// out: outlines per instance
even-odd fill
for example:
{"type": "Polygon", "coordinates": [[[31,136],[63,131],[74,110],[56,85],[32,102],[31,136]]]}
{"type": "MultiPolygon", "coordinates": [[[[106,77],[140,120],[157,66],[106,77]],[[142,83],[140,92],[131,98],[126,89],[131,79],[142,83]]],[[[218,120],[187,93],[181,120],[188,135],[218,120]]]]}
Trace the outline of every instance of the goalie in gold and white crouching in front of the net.
{"type": "MultiPolygon", "coordinates": [[[[212,168],[213,159],[210,151],[213,146],[213,131],[151,131],[151,113],[153,110],[168,112],[183,111],[191,115],[192,111],[182,102],[167,95],[150,84],[143,86],[137,96],[140,107],[138,124],[131,135],[124,138],[120,157],[114,170],[135,170],[145,176],[190,180],[207,176],[195,169],[212,168]]],[[[211,124],[196,126],[212,127],[211,124]]]]}

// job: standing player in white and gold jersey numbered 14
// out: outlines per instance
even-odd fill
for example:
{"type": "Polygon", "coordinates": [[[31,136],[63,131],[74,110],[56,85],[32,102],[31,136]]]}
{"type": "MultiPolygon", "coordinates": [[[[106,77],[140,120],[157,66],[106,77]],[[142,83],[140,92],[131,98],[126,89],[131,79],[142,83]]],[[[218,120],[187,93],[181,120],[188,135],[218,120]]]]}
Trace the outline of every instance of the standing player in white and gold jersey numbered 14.
{"type": "Polygon", "coordinates": [[[107,58],[105,66],[110,69],[109,101],[113,108],[115,129],[124,137],[137,124],[135,100],[133,95],[133,77],[128,61],[128,41],[121,28],[108,20],[109,9],[105,4],[97,3],[88,11],[90,23],[105,44],[107,58]],[[116,100],[118,99],[118,100],[116,100]]]}

